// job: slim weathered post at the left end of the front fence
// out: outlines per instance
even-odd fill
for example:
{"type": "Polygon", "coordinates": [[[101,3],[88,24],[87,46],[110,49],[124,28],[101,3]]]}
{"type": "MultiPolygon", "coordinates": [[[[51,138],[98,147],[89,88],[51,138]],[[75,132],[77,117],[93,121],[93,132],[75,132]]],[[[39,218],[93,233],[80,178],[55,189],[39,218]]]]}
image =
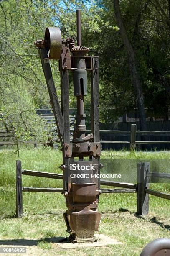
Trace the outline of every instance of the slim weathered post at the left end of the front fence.
{"type": "Polygon", "coordinates": [[[21,161],[16,161],[16,216],[23,214],[23,191],[22,191],[22,169],[21,161]]]}

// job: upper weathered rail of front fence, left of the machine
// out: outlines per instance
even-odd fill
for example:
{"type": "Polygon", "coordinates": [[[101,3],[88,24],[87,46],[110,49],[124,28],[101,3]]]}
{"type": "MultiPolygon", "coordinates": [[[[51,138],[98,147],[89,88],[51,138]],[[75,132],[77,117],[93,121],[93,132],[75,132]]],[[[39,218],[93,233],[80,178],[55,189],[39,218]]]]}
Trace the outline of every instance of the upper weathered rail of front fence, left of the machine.
{"type": "Polygon", "coordinates": [[[51,178],[51,179],[63,179],[63,174],[57,174],[52,172],[37,172],[32,170],[22,170],[22,174],[36,176],[36,177],[51,178]]]}

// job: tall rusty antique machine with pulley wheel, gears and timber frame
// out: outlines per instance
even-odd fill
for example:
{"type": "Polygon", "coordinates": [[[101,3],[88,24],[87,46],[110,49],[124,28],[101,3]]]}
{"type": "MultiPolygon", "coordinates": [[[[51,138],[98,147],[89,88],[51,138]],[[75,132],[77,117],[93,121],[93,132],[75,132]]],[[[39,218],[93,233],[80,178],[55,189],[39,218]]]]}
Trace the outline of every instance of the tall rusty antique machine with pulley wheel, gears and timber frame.
{"type": "Polygon", "coordinates": [[[77,10],[77,46],[72,38],[61,40],[59,28],[46,28],[45,38],[37,40],[46,77],[51,105],[56,118],[63,151],[63,190],[68,210],[64,213],[70,240],[74,243],[96,241],[101,214],[99,143],[99,66],[98,56],[87,56],[89,48],[81,45],[80,10],[77,10]],[[49,59],[59,60],[61,74],[61,108],[56,94],[49,59]],[[74,96],[77,100],[73,140],[69,129],[69,79],[73,73],[74,96]],[[91,133],[86,133],[84,97],[87,95],[87,71],[91,72],[91,133]],[[84,159],[86,157],[86,160],[84,159]],[[77,160],[78,159],[78,160],[77,160]]]}

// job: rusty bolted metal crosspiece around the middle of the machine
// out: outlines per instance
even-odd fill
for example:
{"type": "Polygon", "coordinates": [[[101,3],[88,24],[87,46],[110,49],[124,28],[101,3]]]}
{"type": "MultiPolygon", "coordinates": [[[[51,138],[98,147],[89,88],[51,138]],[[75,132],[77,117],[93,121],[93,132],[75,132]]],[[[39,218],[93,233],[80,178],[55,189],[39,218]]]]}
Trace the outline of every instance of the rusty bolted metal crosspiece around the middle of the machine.
{"type": "Polygon", "coordinates": [[[94,156],[99,157],[101,152],[100,143],[82,142],[82,143],[64,143],[64,157],[73,156],[94,156]]]}

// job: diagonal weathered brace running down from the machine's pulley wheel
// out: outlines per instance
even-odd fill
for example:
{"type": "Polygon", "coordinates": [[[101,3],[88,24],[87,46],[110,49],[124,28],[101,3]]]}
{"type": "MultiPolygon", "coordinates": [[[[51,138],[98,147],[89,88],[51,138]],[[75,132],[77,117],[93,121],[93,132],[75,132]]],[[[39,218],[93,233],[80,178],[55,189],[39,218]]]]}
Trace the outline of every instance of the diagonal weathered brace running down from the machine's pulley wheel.
{"type": "Polygon", "coordinates": [[[58,134],[60,137],[61,145],[63,146],[63,143],[64,143],[63,142],[63,136],[64,136],[63,115],[61,112],[60,103],[58,100],[50,64],[44,63],[44,59],[48,58],[46,49],[39,49],[39,54],[40,54],[41,64],[43,67],[44,76],[46,78],[46,83],[47,83],[47,88],[50,95],[53,113],[56,120],[58,134]]]}

